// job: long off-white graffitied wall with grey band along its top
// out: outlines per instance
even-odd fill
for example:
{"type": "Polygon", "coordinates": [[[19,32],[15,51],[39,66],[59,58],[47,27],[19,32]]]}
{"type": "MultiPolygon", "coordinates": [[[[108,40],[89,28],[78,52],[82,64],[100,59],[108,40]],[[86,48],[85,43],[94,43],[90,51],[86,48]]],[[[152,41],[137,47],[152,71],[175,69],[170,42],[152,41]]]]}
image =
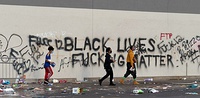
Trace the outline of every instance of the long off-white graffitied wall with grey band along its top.
{"type": "Polygon", "coordinates": [[[0,77],[43,78],[49,45],[55,47],[53,78],[103,76],[106,46],[117,60],[114,77],[122,77],[130,44],[137,46],[139,77],[199,75],[200,14],[194,7],[200,2],[150,1],[1,1],[0,77]]]}

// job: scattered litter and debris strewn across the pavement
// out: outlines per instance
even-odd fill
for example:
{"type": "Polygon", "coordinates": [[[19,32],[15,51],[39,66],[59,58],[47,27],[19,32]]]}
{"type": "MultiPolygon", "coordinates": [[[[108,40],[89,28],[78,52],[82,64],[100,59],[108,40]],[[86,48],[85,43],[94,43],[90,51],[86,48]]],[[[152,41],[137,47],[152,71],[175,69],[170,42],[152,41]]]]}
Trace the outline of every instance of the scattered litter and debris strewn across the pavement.
{"type": "MultiPolygon", "coordinates": [[[[20,79],[19,79],[20,80],[20,79]]],[[[25,81],[25,79],[24,79],[25,81]]],[[[199,92],[195,92],[195,90],[198,90],[196,88],[199,88],[197,81],[190,82],[190,83],[177,83],[177,84],[161,84],[155,81],[153,81],[152,78],[144,79],[146,83],[148,84],[140,84],[140,85],[121,85],[117,84],[117,86],[110,87],[110,86],[99,86],[98,81],[95,83],[91,83],[91,87],[87,87],[87,83],[84,81],[75,81],[73,83],[67,83],[66,80],[59,80],[59,79],[52,79],[52,83],[49,85],[41,85],[38,83],[35,84],[29,84],[26,82],[17,82],[17,83],[10,83],[8,80],[1,80],[0,85],[0,96],[20,96],[20,97],[31,97],[31,96],[40,96],[45,94],[54,94],[54,93],[60,93],[63,96],[80,96],[80,95],[87,95],[91,94],[98,94],[101,95],[102,92],[105,93],[107,96],[115,96],[120,97],[126,94],[129,95],[141,95],[143,96],[146,94],[153,93],[155,96],[157,93],[163,93],[167,91],[173,91],[178,89],[179,92],[184,92],[186,95],[199,95],[199,92]],[[53,84],[55,83],[55,84],[53,84]],[[64,85],[67,85],[66,87],[63,87],[62,84],[59,83],[67,83],[64,85]],[[37,87],[33,86],[37,85],[37,87]],[[124,88],[127,86],[130,86],[128,88],[124,88]],[[75,87],[77,86],[77,87],[75,87]],[[185,88],[185,89],[184,89],[185,88]],[[19,92],[22,91],[22,92],[19,92]],[[130,92],[131,91],[131,92],[130,92]]],[[[181,80],[180,80],[181,81],[181,80]]],[[[182,80],[183,81],[183,80],[182,80]]],[[[143,82],[143,80],[141,81],[143,82]]],[[[160,94],[159,94],[160,95],[160,94]]],[[[105,96],[104,96],[105,97],[105,96]]]]}

